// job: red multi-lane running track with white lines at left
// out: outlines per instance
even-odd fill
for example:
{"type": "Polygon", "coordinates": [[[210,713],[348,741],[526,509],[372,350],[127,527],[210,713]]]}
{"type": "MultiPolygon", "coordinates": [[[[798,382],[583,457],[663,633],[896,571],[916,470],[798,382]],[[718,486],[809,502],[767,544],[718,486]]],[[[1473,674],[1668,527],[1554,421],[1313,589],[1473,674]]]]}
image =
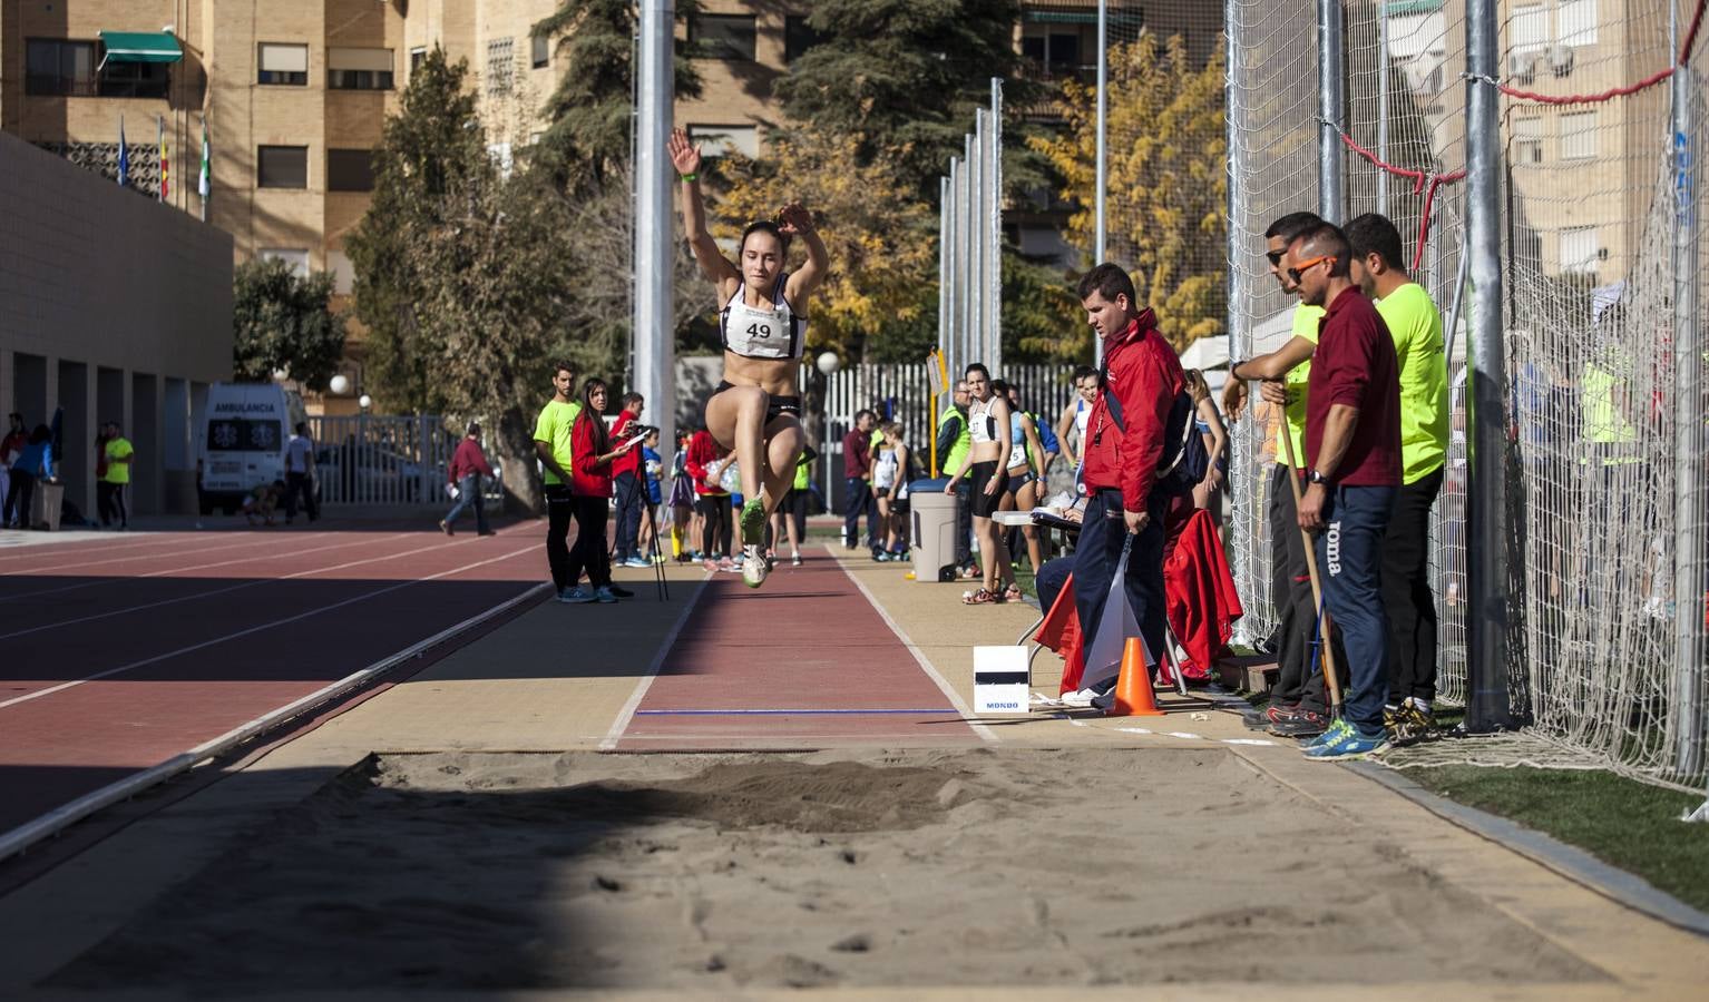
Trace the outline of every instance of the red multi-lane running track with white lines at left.
{"type": "Polygon", "coordinates": [[[154,533],[0,551],[0,831],[535,587],[542,533],[154,533]]]}

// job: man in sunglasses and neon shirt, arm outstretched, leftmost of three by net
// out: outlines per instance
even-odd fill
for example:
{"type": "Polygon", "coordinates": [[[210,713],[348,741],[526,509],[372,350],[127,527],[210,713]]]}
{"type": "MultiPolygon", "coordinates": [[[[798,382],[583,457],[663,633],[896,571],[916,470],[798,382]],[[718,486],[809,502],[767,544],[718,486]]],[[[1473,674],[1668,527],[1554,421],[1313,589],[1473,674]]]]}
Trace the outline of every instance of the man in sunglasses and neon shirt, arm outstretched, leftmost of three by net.
{"type": "MultiPolygon", "coordinates": [[[[1270,273],[1287,295],[1299,295],[1299,283],[1282,266],[1287,248],[1301,236],[1323,225],[1313,212],[1292,212],[1265,229],[1265,256],[1270,273]]],[[[1313,671],[1313,644],[1318,638],[1318,604],[1311,596],[1306,568],[1306,541],[1299,533],[1299,512],[1287,478],[1304,476],[1306,463],[1306,382],[1311,377],[1311,353],[1318,348],[1318,324],[1323,307],[1301,302],[1294,307],[1294,336],[1285,345],[1229,367],[1224,410],[1237,420],[1246,405],[1246,381],[1258,382],[1258,394],[1271,406],[1283,408],[1277,427],[1275,466],[1270,471],[1270,603],[1278,611],[1277,685],[1270,693],[1270,731],[1283,737],[1316,737],[1330,727],[1330,702],[1323,674],[1313,671]],[[1289,444],[1292,459],[1289,464],[1289,444]]],[[[1336,647],[1335,664],[1343,666],[1336,647]]],[[[1321,659],[1319,659],[1321,662],[1321,659]]]]}

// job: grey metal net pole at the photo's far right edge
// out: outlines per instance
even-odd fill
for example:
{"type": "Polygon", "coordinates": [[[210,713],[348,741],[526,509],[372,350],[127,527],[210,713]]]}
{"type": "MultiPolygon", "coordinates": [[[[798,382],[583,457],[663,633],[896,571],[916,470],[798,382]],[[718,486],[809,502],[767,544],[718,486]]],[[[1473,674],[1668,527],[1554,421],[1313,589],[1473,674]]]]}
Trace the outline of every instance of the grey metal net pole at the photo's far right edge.
{"type": "Polygon", "coordinates": [[[1673,768],[1704,768],[1704,343],[1697,302],[1697,133],[1702,94],[1680,53],[1680,5],[1668,3],[1673,39],[1673,768]]]}

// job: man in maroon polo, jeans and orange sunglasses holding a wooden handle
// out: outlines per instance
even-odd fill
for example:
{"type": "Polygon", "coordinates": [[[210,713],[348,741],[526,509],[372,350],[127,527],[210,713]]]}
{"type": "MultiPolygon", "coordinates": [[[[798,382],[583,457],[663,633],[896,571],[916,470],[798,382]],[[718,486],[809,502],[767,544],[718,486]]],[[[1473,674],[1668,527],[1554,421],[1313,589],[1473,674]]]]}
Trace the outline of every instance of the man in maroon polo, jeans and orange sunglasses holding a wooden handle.
{"type": "Polygon", "coordinates": [[[1389,746],[1383,536],[1401,481],[1400,362],[1388,324],[1348,277],[1352,256],[1347,236],[1323,224],[1289,244],[1285,258],[1301,300],[1324,307],[1306,386],[1311,485],[1299,526],[1316,533],[1323,599],[1342,628],[1350,683],[1342,717],[1304,746],[1319,761],[1389,746]]]}

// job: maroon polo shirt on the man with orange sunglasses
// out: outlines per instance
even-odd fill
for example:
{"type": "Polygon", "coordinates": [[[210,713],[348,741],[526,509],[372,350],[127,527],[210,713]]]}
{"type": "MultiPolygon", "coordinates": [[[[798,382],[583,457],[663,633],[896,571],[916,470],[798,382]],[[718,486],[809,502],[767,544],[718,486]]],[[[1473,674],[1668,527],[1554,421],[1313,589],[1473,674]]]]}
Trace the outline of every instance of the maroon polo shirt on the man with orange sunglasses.
{"type": "Polygon", "coordinates": [[[1359,408],[1335,469],[1343,486],[1400,486],[1400,362],[1377,307],[1357,288],[1330,302],[1306,382],[1306,456],[1316,466],[1335,405],[1359,408]]]}

